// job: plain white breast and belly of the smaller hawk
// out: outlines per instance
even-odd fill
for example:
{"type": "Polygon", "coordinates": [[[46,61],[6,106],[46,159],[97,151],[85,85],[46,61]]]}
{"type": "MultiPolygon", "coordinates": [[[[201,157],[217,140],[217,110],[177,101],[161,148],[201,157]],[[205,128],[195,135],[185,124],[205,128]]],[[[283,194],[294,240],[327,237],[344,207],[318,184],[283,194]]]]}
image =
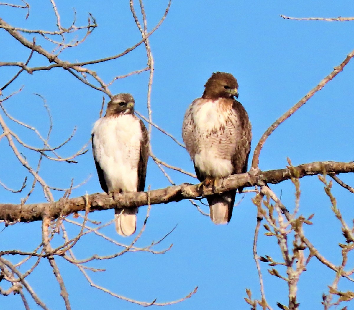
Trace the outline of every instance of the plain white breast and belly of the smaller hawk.
{"type": "Polygon", "coordinates": [[[95,159],[109,191],[137,191],[142,132],[133,115],[103,117],[92,130],[95,159]]]}

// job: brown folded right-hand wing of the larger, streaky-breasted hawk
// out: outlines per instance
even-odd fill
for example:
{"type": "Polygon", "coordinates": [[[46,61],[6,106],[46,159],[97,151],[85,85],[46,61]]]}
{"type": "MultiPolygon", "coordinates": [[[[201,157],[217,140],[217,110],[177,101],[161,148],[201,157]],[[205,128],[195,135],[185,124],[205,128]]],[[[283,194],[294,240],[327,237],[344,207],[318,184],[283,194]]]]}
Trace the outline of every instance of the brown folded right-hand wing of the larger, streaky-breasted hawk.
{"type": "MultiPolygon", "coordinates": [[[[239,128],[241,139],[236,142],[235,153],[233,154],[231,161],[234,167],[233,173],[245,173],[247,172],[248,157],[251,151],[251,123],[248,118],[248,114],[241,103],[234,100],[233,109],[239,118],[239,128]]],[[[239,192],[242,192],[243,187],[239,188],[239,192]]]]}

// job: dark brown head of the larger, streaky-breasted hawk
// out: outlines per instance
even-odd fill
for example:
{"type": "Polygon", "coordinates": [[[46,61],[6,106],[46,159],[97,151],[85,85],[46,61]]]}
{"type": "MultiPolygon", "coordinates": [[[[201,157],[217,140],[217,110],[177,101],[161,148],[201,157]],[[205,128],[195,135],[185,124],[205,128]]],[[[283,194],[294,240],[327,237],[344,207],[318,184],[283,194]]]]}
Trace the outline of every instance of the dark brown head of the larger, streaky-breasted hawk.
{"type": "Polygon", "coordinates": [[[226,72],[214,72],[209,80],[206,81],[205,90],[202,98],[233,98],[239,97],[239,84],[234,76],[226,72]]]}

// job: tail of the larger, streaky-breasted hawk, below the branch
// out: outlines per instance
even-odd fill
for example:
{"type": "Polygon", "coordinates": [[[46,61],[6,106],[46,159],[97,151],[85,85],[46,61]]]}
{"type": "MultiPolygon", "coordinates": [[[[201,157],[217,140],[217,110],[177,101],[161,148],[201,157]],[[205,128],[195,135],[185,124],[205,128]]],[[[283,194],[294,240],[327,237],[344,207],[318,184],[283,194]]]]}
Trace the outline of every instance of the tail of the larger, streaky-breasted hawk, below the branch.
{"type": "Polygon", "coordinates": [[[214,224],[227,224],[232,216],[236,191],[214,194],[207,197],[210,207],[210,219],[214,224]]]}

